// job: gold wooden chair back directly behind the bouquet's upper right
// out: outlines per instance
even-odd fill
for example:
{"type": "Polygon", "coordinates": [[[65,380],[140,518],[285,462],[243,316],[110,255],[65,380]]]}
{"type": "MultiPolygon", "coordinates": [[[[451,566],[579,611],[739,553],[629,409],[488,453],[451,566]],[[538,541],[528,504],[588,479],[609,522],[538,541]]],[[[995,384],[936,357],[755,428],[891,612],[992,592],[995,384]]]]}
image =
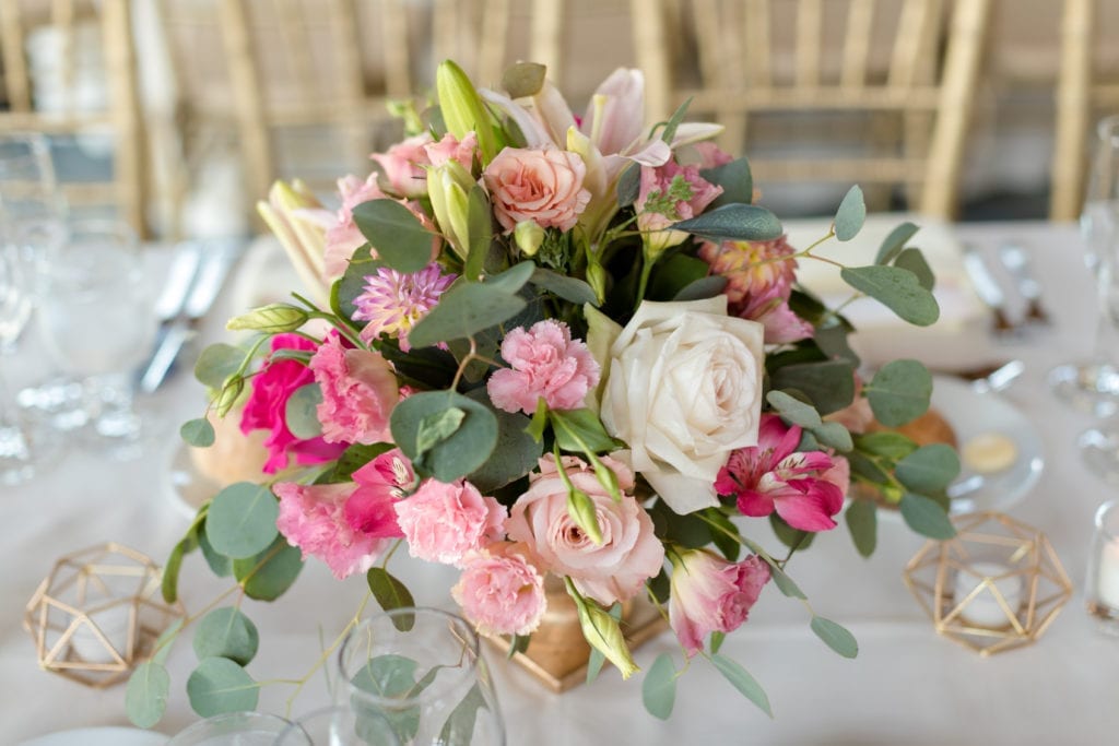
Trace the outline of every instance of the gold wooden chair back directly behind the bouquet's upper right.
{"type": "Polygon", "coordinates": [[[632,0],[638,62],[667,114],[726,125],[768,204],[953,217],[990,0],[632,0]],[[669,29],[671,29],[669,31],[669,29]],[[810,182],[824,185],[812,198],[810,182]],[[828,188],[827,183],[834,185],[828,188]],[[782,193],[783,192],[783,193],[782,193]]]}

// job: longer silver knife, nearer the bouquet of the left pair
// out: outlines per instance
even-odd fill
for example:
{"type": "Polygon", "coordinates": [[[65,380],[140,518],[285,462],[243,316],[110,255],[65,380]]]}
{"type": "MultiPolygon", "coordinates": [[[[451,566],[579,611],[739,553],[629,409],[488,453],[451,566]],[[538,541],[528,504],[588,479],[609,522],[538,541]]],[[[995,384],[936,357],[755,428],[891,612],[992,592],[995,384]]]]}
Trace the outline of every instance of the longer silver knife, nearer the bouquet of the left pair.
{"type": "Polygon", "coordinates": [[[151,394],[160,387],[182,347],[197,333],[198,323],[217,300],[229,270],[241,256],[241,244],[223,242],[204,247],[203,263],[190,286],[182,313],[168,325],[151,362],[140,377],[140,390],[151,394]]]}

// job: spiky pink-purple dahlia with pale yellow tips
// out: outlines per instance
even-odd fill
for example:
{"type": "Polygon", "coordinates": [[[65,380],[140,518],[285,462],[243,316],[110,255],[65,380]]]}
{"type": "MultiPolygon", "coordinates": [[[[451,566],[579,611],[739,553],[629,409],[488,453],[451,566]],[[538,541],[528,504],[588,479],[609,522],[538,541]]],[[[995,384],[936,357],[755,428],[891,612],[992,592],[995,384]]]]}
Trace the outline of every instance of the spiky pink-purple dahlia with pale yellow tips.
{"type": "Polygon", "coordinates": [[[366,275],[365,292],[354,299],[354,319],[369,322],[361,330],[361,339],[372,342],[382,334],[395,336],[407,352],[412,349],[408,332],[435,308],[454,278],[453,274],[443,274],[434,262],[411,274],[379,267],[377,274],[366,275]]]}

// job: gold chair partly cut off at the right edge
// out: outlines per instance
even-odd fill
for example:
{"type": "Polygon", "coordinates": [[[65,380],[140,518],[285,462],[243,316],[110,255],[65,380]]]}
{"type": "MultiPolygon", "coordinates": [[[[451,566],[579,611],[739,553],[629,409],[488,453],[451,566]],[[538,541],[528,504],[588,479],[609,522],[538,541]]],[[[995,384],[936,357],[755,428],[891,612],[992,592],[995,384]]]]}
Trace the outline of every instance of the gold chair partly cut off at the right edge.
{"type": "Polygon", "coordinates": [[[1104,21],[1117,18],[1119,3],[1113,1],[1064,0],[1050,201],[1054,220],[1080,215],[1092,126],[1098,117],[1119,112],[1119,40],[1100,31],[1104,21]]]}

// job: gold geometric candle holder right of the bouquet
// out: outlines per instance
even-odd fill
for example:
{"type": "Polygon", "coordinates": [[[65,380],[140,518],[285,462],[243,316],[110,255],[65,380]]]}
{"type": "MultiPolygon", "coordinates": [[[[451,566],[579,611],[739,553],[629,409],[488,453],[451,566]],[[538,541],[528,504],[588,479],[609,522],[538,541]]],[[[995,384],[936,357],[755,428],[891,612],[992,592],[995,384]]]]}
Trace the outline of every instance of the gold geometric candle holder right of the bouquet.
{"type": "Polygon", "coordinates": [[[953,523],[956,538],[927,542],[903,575],[937,632],[984,657],[1035,641],[1072,595],[1049,539],[997,512],[953,523]]]}

